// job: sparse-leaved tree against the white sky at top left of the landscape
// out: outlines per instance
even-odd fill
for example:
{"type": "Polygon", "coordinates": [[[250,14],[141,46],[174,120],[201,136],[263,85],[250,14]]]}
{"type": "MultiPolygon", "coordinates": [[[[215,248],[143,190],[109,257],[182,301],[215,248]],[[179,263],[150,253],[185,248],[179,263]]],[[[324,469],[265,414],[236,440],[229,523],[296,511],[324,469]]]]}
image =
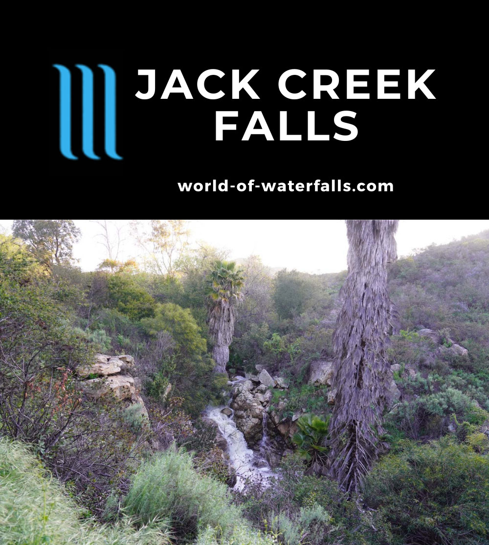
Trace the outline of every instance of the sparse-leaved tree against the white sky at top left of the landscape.
{"type": "Polygon", "coordinates": [[[54,263],[70,263],[73,244],[81,231],[73,220],[14,220],[14,237],[24,240],[35,258],[51,267],[54,263]]]}

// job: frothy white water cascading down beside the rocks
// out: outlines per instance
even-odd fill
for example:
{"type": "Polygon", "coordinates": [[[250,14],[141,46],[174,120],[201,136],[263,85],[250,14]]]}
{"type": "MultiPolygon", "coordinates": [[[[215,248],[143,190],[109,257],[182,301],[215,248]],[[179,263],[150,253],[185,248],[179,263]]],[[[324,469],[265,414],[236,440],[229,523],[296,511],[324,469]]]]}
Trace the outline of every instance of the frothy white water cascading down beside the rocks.
{"type": "MultiPolygon", "coordinates": [[[[216,422],[219,431],[228,443],[228,455],[231,465],[236,470],[236,490],[242,490],[247,480],[260,480],[264,486],[267,486],[268,479],[275,477],[276,474],[268,465],[265,458],[248,448],[243,433],[237,429],[233,420],[234,413],[226,416],[221,413],[222,407],[210,407],[205,411],[205,415],[216,422]]],[[[231,409],[232,410],[232,409],[231,409]]]]}

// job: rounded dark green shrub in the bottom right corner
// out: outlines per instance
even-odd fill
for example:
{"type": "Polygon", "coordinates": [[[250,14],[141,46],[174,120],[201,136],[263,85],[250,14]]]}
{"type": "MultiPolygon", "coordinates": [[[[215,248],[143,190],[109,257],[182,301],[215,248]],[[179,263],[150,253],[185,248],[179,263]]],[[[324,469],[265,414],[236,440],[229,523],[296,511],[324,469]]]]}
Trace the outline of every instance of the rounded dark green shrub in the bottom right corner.
{"type": "Polygon", "coordinates": [[[411,443],[371,471],[365,501],[406,543],[487,542],[489,460],[448,437],[411,443]]]}

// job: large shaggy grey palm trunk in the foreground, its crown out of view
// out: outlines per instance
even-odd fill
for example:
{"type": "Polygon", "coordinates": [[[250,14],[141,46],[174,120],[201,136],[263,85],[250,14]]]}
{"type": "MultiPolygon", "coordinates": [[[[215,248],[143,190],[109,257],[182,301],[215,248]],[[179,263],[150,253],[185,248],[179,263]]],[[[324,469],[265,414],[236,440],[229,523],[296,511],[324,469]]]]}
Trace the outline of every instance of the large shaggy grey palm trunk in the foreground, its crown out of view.
{"type": "Polygon", "coordinates": [[[329,474],[345,490],[360,488],[384,433],[391,379],[386,344],[393,317],[386,265],[396,259],[398,221],[346,220],[348,275],[333,337],[337,392],[329,427],[329,474]]]}

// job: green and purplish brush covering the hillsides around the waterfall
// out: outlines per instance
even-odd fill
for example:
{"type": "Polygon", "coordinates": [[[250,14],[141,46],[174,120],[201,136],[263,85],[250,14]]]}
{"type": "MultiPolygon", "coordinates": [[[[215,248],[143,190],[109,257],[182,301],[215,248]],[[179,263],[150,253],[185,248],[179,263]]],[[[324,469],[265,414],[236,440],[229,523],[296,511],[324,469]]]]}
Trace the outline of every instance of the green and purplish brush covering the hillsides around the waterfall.
{"type": "MultiPolygon", "coordinates": [[[[228,397],[207,324],[223,252],[184,246],[166,270],[107,259],[82,272],[69,248],[52,257],[42,229],[35,241],[0,235],[2,543],[489,542],[489,231],[389,265],[394,399],[383,455],[357,495],[308,471],[305,435],[298,449],[284,439],[273,486],[228,488],[200,418],[228,397]],[[95,353],[135,357],[149,426],[82,392],[75,371],[95,353]]],[[[331,387],[310,384],[310,364],[333,358],[346,272],[272,275],[255,256],[241,269],[227,370],[283,377],[274,410],[319,426],[331,387]]]]}

